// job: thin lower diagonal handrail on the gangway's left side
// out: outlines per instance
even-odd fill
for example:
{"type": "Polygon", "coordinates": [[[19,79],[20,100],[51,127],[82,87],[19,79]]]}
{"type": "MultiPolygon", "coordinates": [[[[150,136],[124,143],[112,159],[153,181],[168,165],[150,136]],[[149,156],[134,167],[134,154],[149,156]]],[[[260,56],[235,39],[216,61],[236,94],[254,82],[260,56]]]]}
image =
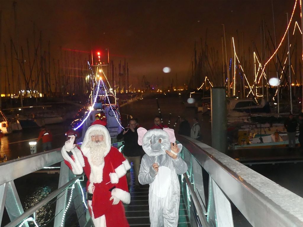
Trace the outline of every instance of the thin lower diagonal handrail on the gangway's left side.
{"type": "Polygon", "coordinates": [[[46,203],[54,199],[56,196],[60,195],[62,192],[66,190],[69,186],[74,184],[79,178],[83,176],[79,175],[75,178],[71,179],[68,183],[63,185],[62,187],[58,188],[57,190],[53,191],[51,194],[49,194],[45,199],[42,199],[40,202],[38,202],[36,205],[32,206],[31,208],[27,209],[22,215],[20,215],[18,218],[16,218],[14,221],[8,223],[5,225],[5,227],[15,227],[20,222],[22,222],[24,219],[26,219],[29,215],[32,215],[35,211],[37,211],[39,208],[44,206],[46,203]]]}

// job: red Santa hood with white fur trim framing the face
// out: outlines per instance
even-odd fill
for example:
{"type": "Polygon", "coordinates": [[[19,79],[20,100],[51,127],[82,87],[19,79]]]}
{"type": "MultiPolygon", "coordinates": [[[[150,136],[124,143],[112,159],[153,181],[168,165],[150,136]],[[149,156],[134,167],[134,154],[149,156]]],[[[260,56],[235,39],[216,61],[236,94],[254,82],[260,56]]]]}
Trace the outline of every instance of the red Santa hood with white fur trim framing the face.
{"type": "MultiPolygon", "coordinates": [[[[106,118],[105,118],[106,119],[106,118]]],[[[92,131],[100,131],[104,134],[104,141],[106,144],[106,151],[105,155],[108,154],[109,150],[111,149],[111,136],[109,135],[109,132],[107,128],[105,127],[106,125],[106,120],[95,120],[90,127],[85,132],[84,140],[81,146],[81,150],[84,155],[86,155],[89,152],[89,147],[87,147],[87,144],[89,141],[91,141],[91,136],[89,133],[92,131]]]]}

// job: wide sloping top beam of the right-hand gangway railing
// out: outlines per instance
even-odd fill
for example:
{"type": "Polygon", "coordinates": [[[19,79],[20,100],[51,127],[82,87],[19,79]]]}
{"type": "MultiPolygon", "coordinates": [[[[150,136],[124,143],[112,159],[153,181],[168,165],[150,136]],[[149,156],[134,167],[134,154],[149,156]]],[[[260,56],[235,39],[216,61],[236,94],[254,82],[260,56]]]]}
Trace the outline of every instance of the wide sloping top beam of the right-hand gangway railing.
{"type": "Polygon", "coordinates": [[[251,225],[303,226],[303,198],[204,143],[177,139],[251,225]]]}

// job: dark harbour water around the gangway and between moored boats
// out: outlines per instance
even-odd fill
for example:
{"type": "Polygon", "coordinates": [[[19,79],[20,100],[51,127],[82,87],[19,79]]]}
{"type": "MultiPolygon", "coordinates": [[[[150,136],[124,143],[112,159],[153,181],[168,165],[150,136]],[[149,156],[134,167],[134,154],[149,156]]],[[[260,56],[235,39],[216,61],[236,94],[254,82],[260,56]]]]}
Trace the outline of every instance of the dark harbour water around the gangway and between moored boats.
{"type": "MultiPolygon", "coordinates": [[[[194,108],[185,108],[182,97],[159,97],[159,104],[162,112],[163,121],[168,124],[169,113],[171,113],[171,125],[173,125],[178,116],[185,116],[189,123],[193,124],[193,117],[198,117],[203,142],[211,145],[211,123],[208,114],[202,115],[197,113],[194,108]]],[[[155,98],[145,98],[143,100],[130,103],[120,109],[121,113],[131,114],[134,118],[138,118],[138,122],[142,127],[149,129],[153,125],[153,119],[158,115],[158,107],[155,98]]],[[[54,135],[53,148],[61,147],[64,144],[64,133],[67,130],[68,123],[49,125],[49,129],[54,135]]],[[[126,125],[124,125],[126,126],[126,125]]],[[[175,127],[178,131],[178,124],[175,127]]],[[[8,159],[15,159],[30,154],[28,141],[22,143],[13,143],[19,140],[27,140],[37,138],[39,129],[23,130],[22,132],[9,134],[1,139],[0,154],[6,154],[8,159]]],[[[41,143],[41,142],[40,142],[41,143]]],[[[38,144],[38,151],[41,150],[41,144],[38,144]]],[[[299,196],[303,196],[303,164],[266,164],[253,165],[251,169],[261,173],[281,186],[289,189],[299,196]]],[[[15,180],[17,191],[19,193],[23,207],[26,209],[41,201],[45,196],[58,188],[58,174],[29,174],[20,179],[15,180]]],[[[40,219],[43,218],[45,223],[53,216],[54,209],[46,207],[39,211],[40,219]]],[[[235,226],[246,227],[251,226],[237,209],[233,207],[233,215],[235,226]]],[[[1,226],[8,223],[7,214],[4,214],[4,220],[1,226]]],[[[77,225],[75,225],[77,226],[77,225]]]]}

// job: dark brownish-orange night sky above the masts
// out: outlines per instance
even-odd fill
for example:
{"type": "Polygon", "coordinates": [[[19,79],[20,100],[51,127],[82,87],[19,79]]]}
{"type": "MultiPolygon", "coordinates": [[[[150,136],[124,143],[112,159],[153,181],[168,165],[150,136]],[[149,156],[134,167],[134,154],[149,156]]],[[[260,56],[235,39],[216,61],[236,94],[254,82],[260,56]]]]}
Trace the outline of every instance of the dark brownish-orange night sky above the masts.
{"type": "MultiPolygon", "coordinates": [[[[8,49],[10,36],[15,42],[12,3],[1,3],[2,43],[6,43],[8,49]]],[[[285,13],[291,14],[294,3],[294,0],[273,1],[277,40],[281,39],[286,28],[285,13]]],[[[231,36],[235,36],[237,41],[238,30],[241,41],[243,32],[245,53],[248,53],[252,41],[260,45],[262,19],[270,29],[273,26],[270,0],[26,0],[17,1],[17,18],[20,46],[26,47],[26,38],[32,45],[35,22],[36,39],[41,30],[45,50],[48,41],[51,42],[52,58],[59,58],[60,46],[82,51],[90,51],[91,47],[94,51],[109,48],[116,65],[125,56],[130,69],[130,84],[133,82],[135,86],[138,85],[138,76],[141,83],[142,75],[152,83],[156,82],[157,77],[160,81],[165,76],[168,84],[177,73],[178,80],[185,82],[191,74],[194,42],[197,41],[197,48],[201,48],[200,38],[205,42],[206,29],[206,42],[219,54],[222,50],[221,24],[225,24],[229,53],[231,36]],[[171,67],[171,73],[162,72],[165,66],[171,67]]]]}

